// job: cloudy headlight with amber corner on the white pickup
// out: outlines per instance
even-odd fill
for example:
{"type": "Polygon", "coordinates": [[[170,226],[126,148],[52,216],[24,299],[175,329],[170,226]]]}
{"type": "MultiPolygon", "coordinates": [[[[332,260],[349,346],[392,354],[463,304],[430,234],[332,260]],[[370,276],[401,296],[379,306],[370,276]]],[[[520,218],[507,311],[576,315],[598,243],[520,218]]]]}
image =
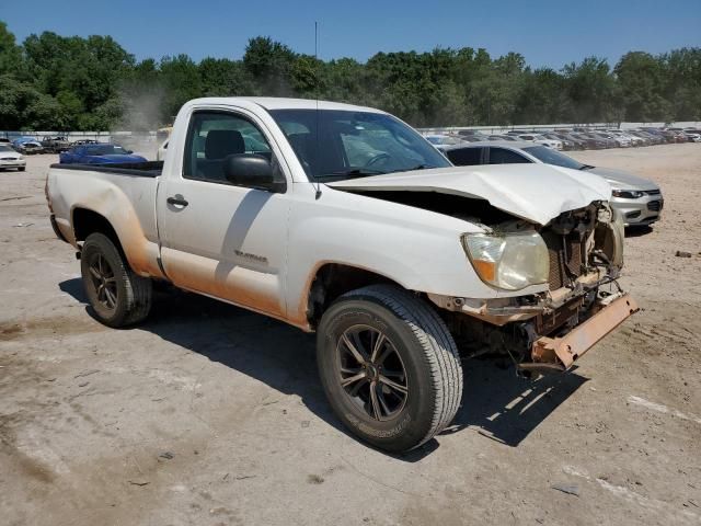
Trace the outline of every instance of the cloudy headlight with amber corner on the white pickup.
{"type": "Polygon", "coordinates": [[[548,247],[538,232],[463,233],[462,247],[484,283],[520,290],[548,282],[548,247]]]}

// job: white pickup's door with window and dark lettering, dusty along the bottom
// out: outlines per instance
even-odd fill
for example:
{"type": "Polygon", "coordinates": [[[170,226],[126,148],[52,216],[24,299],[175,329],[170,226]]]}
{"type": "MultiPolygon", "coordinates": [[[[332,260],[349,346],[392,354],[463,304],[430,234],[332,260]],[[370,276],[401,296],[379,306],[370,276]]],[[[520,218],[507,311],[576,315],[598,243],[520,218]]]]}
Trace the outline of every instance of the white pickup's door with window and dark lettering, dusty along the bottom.
{"type": "Polygon", "coordinates": [[[257,153],[277,164],[253,115],[192,114],[181,173],[170,173],[159,186],[161,261],[179,287],[284,319],[289,199],[227,181],[223,161],[235,153],[257,153]]]}

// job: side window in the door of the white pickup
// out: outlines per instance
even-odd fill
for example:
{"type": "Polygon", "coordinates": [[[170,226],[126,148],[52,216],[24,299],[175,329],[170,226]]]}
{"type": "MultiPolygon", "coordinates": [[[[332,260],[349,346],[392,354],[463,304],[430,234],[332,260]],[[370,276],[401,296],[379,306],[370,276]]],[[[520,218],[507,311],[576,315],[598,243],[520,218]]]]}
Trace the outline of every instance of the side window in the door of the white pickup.
{"type": "Polygon", "coordinates": [[[223,161],[238,153],[256,153],[272,160],[265,136],[248,118],[225,112],[193,114],[185,140],[184,178],[229,184],[223,161]]]}

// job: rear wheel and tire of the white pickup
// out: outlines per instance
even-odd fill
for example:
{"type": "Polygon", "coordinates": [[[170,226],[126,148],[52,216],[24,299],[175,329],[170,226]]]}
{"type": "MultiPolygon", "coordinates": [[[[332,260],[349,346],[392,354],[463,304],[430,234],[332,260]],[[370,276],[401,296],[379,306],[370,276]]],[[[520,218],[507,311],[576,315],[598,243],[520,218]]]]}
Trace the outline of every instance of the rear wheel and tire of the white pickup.
{"type": "Polygon", "coordinates": [[[120,328],[149,315],[151,281],[137,275],[106,236],[96,232],[88,236],[81,251],[80,271],[83,288],[100,322],[120,328]]]}

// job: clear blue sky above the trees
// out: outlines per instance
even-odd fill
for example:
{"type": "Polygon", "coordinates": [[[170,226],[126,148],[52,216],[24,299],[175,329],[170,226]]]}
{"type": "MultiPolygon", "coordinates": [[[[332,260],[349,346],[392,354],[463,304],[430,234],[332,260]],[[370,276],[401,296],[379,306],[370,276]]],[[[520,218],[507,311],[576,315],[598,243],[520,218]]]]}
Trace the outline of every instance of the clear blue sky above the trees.
{"type": "Polygon", "coordinates": [[[485,47],[560,68],[590,55],[614,64],[628,50],[701,46],[700,0],[0,0],[0,20],[19,42],[43,31],[112,35],[138,59],[240,58],[258,35],[312,54],[314,21],[323,59],[485,47]]]}

